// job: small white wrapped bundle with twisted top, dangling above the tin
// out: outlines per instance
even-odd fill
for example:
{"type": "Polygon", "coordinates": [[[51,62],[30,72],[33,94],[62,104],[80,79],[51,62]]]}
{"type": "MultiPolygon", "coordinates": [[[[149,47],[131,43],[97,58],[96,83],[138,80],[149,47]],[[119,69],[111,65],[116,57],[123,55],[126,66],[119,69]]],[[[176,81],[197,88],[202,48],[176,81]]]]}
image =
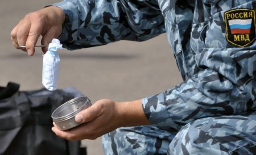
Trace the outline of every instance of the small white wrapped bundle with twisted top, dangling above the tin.
{"type": "Polygon", "coordinates": [[[57,49],[62,49],[58,39],[52,39],[48,51],[43,55],[42,83],[47,90],[57,89],[59,81],[60,56],[57,49]]]}

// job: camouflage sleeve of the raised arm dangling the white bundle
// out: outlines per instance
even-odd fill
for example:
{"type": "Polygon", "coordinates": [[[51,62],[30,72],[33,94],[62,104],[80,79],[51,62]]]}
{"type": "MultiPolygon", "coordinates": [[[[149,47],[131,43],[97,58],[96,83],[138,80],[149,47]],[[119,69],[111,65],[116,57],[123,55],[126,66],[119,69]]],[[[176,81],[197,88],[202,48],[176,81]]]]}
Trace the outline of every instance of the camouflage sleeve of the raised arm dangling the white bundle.
{"type": "Polygon", "coordinates": [[[65,12],[59,39],[68,49],[118,40],[143,41],[165,32],[162,13],[154,0],[64,0],[53,5],[65,12]]]}

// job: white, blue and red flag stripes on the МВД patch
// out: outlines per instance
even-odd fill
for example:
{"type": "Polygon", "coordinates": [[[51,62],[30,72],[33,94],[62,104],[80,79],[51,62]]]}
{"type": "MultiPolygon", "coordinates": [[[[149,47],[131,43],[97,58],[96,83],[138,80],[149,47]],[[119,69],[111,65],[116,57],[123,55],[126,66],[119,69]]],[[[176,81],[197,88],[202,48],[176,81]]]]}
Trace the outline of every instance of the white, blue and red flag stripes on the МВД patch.
{"type": "Polygon", "coordinates": [[[232,19],[228,22],[232,34],[249,34],[251,32],[251,19],[232,19]]]}

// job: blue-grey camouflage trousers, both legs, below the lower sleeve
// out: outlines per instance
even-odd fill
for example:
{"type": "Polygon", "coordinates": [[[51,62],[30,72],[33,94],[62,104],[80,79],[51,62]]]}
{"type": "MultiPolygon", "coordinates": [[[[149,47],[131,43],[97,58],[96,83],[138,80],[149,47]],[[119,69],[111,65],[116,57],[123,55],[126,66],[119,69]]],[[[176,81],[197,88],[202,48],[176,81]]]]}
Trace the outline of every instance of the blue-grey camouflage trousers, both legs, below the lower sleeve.
{"type": "Polygon", "coordinates": [[[118,128],[103,136],[106,155],[253,155],[256,154],[256,111],[197,119],[179,132],[157,127],[118,128]]]}

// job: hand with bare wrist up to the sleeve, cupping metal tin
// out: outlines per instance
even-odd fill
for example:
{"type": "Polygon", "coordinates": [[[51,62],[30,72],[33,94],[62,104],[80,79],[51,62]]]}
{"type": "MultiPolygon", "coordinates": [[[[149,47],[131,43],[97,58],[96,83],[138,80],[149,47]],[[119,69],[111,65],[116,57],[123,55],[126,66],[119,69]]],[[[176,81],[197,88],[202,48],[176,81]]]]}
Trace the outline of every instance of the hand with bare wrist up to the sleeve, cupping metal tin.
{"type": "Polygon", "coordinates": [[[77,114],[75,120],[82,124],[61,131],[53,123],[52,131],[67,140],[93,140],[119,127],[150,124],[144,116],[141,100],[120,103],[109,99],[98,100],[77,114]]]}

